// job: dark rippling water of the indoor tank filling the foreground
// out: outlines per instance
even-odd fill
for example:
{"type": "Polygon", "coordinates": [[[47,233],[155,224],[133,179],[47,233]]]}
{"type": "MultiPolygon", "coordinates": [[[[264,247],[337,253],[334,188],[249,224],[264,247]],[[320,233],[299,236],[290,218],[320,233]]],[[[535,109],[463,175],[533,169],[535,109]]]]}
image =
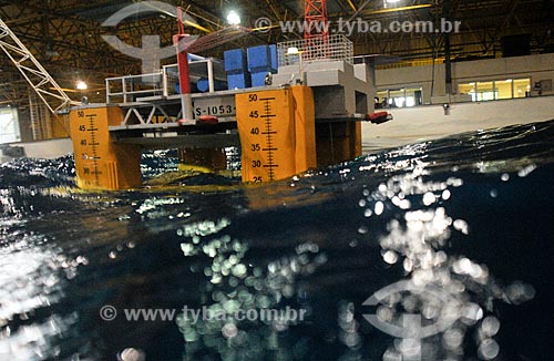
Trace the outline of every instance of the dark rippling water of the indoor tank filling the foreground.
{"type": "MultiPolygon", "coordinates": [[[[145,177],[172,155],[145,156],[145,177]]],[[[71,157],[0,167],[0,360],[554,359],[554,122],[256,187],[88,193],[73,172],[71,157]],[[184,306],[305,318],[194,322],[184,306]]]]}

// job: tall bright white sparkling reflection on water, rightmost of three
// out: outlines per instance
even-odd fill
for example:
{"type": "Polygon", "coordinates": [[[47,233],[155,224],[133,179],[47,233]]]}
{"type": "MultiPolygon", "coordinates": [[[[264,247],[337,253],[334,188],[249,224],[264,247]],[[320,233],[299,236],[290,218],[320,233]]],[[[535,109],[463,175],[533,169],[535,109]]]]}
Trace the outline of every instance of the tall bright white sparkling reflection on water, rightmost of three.
{"type": "MultiPolygon", "coordinates": [[[[380,246],[383,260],[390,265],[402,265],[404,279],[420,292],[396,295],[393,300],[389,299],[388,305],[381,306],[377,312],[388,323],[393,323],[394,319],[398,321],[406,313],[421,314],[428,324],[438,324],[444,320],[451,322],[448,329],[441,330],[442,338],[399,339],[386,351],[383,360],[462,360],[466,357],[463,350],[464,338],[473,328],[479,332],[475,342],[480,359],[492,360],[500,353],[500,347],[493,337],[501,323],[492,316],[495,311],[493,305],[495,300],[502,300],[513,292],[503,290],[485,265],[478,265],[463,256],[449,256],[444,251],[453,230],[469,234],[465,220],[452,219],[445,209],[453,192],[449,187],[461,187],[463,180],[450,177],[441,183],[423,182],[422,175],[425,174],[429,173],[420,164],[411,174],[396,176],[387,184],[381,184],[367,198],[407,209],[402,202],[408,197],[412,199],[408,203],[414,204],[417,209],[406,212],[404,219],[390,220],[388,234],[380,239],[380,246]],[[425,208],[435,203],[440,206],[425,208]],[[424,292],[429,286],[438,287],[445,293],[444,297],[448,295],[444,305],[424,292]],[[483,320],[484,316],[486,318],[483,320]]],[[[522,288],[526,289],[522,300],[531,300],[534,297],[533,287],[519,287],[522,288]]]]}

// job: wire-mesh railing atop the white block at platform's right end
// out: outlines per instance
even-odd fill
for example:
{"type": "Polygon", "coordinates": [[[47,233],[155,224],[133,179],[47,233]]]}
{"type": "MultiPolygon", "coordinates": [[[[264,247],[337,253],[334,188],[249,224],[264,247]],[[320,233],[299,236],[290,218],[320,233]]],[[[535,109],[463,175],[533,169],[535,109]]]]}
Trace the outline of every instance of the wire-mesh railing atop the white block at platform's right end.
{"type": "Polygon", "coordinates": [[[279,66],[298,64],[301,61],[343,60],[353,63],[353,44],[342,34],[280,42],[277,44],[279,66]]]}

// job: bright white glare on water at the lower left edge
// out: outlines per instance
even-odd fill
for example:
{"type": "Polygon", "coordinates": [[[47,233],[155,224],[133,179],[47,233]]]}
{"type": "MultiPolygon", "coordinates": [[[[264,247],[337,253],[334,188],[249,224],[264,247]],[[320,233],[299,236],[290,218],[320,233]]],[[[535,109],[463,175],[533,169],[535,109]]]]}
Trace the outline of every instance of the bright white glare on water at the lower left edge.
{"type": "Polygon", "coordinates": [[[86,259],[66,259],[38,243],[11,244],[0,252],[0,359],[33,360],[55,355],[53,340],[76,321],[76,312],[51,314],[29,324],[37,312],[55,305],[63,295],[60,270],[71,279],[86,259]]]}

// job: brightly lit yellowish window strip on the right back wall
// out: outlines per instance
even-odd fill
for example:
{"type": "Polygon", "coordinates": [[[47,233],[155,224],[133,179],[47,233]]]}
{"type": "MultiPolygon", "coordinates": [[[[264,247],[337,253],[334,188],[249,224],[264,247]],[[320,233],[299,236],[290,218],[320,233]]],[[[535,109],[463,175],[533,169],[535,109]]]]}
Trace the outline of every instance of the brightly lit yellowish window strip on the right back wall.
{"type": "Polygon", "coordinates": [[[472,102],[525,97],[531,91],[531,79],[461,83],[458,85],[458,91],[460,94],[470,95],[472,102]]]}

